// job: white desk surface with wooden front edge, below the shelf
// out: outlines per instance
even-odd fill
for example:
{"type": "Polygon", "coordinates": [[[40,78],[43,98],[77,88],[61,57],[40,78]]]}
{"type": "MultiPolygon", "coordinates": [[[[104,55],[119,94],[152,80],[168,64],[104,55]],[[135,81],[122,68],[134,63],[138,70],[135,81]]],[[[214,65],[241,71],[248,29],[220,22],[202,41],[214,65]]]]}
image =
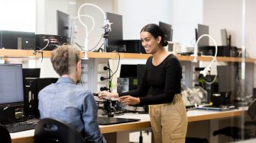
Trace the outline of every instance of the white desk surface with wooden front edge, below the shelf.
{"type": "MultiPolygon", "coordinates": [[[[241,116],[248,107],[242,107],[238,110],[228,110],[228,111],[211,111],[211,110],[189,110],[187,112],[189,122],[202,121],[207,119],[221,119],[233,116],[241,116]]],[[[99,126],[102,134],[110,132],[122,132],[128,130],[144,129],[151,127],[150,119],[148,114],[138,114],[138,113],[125,113],[122,116],[115,116],[118,118],[134,118],[141,119],[139,122],[128,122],[122,124],[115,124],[109,126],[99,126]]],[[[24,132],[15,132],[11,133],[12,143],[21,143],[21,142],[33,142],[34,129],[24,131],[24,132]]]]}

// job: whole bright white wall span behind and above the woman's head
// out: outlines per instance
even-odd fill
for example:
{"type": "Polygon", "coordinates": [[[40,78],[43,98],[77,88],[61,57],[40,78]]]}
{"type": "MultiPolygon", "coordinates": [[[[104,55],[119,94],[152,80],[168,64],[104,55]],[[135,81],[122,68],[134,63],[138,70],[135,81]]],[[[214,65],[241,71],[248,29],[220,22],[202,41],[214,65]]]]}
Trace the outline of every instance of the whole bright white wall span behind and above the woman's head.
{"type": "MultiPolygon", "coordinates": [[[[196,25],[203,21],[203,0],[119,0],[125,40],[139,40],[141,28],[159,21],[173,25],[173,41],[192,46],[196,25]]],[[[195,41],[194,41],[195,43],[195,41]]]]}

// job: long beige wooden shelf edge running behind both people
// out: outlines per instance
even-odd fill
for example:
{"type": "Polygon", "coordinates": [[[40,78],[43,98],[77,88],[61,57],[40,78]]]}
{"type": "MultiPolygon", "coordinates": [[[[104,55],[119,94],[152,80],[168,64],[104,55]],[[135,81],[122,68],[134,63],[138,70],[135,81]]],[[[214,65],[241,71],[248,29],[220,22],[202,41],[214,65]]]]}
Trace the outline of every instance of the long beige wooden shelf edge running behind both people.
{"type": "MultiPolygon", "coordinates": [[[[2,57],[20,57],[20,58],[41,58],[41,52],[33,54],[33,50],[24,49],[0,49],[0,56],[2,57]]],[[[80,57],[84,57],[84,52],[80,52],[80,57]]],[[[147,59],[150,54],[138,54],[138,53],[118,53],[118,52],[86,52],[88,58],[99,59],[147,59]]],[[[51,51],[43,51],[43,56],[50,58],[51,51]]],[[[180,56],[177,55],[180,61],[193,61],[193,56],[180,56]]],[[[211,61],[211,57],[198,56],[198,61],[211,61]]],[[[241,58],[235,57],[217,57],[218,62],[242,62],[241,58]]],[[[245,62],[256,63],[256,59],[245,58],[245,62]]]]}

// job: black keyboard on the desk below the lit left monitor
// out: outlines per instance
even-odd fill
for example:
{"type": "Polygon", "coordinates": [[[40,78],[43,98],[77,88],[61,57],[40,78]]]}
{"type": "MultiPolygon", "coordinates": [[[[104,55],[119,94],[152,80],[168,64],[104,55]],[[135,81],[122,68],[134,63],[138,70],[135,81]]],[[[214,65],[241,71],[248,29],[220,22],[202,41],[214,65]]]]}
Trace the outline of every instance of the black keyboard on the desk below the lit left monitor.
{"type": "Polygon", "coordinates": [[[6,124],[2,125],[5,127],[5,129],[8,130],[8,132],[13,133],[13,132],[21,132],[21,131],[26,131],[30,129],[35,129],[37,126],[38,120],[28,120],[25,122],[15,122],[13,124],[6,124]]]}

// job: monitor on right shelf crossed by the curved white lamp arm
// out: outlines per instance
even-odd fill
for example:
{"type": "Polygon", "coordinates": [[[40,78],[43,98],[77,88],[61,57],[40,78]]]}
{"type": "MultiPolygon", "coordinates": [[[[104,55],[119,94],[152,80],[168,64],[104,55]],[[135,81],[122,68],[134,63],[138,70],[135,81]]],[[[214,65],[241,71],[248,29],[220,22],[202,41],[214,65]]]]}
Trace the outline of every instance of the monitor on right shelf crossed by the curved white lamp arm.
{"type": "MultiPolygon", "coordinates": [[[[209,34],[209,26],[198,24],[197,37],[201,37],[203,34],[209,34]]],[[[209,37],[203,37],[199,40],[198,47],[209,46],[209,37]]]]}

